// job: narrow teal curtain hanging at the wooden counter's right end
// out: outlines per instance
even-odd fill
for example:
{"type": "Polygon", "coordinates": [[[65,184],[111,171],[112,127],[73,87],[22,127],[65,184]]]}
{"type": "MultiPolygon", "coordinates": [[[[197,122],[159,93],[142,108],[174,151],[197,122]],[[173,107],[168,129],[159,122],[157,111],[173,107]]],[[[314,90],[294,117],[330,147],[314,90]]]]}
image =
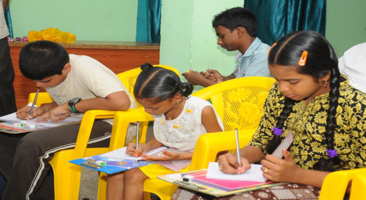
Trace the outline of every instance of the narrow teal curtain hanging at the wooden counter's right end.
{"type": "Polygon", "coordinates": [[[136,41],[160,43],[161,0],[138,0],[136,41]]]}

